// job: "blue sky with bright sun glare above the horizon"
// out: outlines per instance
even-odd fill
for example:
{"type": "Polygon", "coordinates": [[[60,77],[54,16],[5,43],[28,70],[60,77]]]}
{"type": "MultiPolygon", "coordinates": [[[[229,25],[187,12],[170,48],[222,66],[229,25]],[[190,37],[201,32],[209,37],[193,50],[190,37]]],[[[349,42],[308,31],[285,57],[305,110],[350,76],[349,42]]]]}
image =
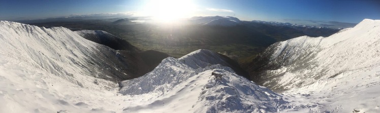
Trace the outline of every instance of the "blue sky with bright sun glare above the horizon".
{"type": "Polygon", "coordinates": [[[178,19],[193,16],[233,16],[240,20],[286,19],[359,23],[380,19],[380,1],[304,0],[0,0],[0,20],[33,20],[73,15],[153,16],[178,19]]]}

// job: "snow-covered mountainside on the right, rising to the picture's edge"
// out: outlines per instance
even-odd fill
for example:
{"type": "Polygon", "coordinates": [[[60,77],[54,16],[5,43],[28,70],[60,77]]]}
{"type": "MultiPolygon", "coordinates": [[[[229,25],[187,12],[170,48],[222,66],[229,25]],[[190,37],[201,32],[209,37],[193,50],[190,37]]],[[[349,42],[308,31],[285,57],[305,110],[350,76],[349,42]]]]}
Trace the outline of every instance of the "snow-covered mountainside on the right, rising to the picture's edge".
{"type": "Polygon", "coordinates": [[[365,19],[329,37],[301,36],[271,45],[255,60],[252,76],[276,91],[309,94],[307,101],[334,112],[379,112],[378,48],[380,20],[365,19]]]}

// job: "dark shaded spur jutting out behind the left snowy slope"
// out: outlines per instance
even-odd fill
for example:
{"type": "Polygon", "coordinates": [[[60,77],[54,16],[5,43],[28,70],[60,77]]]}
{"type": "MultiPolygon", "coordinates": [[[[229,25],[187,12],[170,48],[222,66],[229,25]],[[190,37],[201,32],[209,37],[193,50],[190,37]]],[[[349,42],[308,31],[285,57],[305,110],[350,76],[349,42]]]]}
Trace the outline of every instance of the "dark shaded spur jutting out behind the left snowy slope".
{"type": "Polygon", "coordinates": [[[133,65],[130,66],[129,70],[131,75],[133,75],[133,78],[143,76],[145,73],[153,70],[154,67],[159,65],[163,59],[169,57],[168,54],[159,51],[140,51],[129,42],[106,31],[79,30],[74,32],[83,36],[87,40],[118,50],[119,54],[124,56],[130,65],[133,65]]]}

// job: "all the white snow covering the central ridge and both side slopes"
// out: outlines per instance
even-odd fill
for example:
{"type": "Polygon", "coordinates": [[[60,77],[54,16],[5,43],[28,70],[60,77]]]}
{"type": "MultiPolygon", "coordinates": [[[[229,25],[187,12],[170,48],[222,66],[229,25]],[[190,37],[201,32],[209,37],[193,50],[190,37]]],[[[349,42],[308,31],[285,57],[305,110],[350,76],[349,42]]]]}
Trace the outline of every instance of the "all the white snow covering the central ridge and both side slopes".
{"type": "Polygon", "coordinates": [[[282,66],[268,72],[283,76],[268,84],[287,88],[278,94],[202,49],[116,83],[110,73],[123,72],[100,52],[115,50],[67,28],[0,21],[0,112],[380,112],[378,26],[272,45],[282,66]]]}

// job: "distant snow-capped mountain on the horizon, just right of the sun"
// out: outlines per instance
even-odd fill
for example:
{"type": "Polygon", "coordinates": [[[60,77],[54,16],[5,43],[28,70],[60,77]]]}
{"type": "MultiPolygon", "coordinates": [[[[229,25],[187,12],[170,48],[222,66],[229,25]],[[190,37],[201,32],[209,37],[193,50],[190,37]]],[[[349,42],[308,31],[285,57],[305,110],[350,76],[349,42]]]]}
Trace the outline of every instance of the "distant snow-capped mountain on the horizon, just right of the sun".
{"type": "Polygon", "coordinates": [[[195,24],[209,26],[236,26],[241,24],[241,21],[238,18],[230,16],[192,17],[189,21],[195,24]]]}

